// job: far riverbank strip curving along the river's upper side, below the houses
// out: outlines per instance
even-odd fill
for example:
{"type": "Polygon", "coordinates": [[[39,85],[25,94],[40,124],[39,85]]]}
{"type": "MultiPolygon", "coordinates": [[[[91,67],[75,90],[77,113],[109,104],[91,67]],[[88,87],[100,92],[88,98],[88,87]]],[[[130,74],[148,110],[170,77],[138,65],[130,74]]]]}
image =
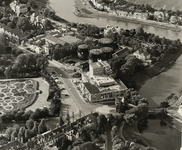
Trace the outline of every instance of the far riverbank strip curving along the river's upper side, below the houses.
{"type": "Polygon", "coordinates": [[[176,26],[173,24],[163,23],[163,22],[156,22],[151,20],[142,20],[142,19],[136,19],[131,17],[124,17],[124,16],[118,16],[114,13],[107,13],[102,11],[97,11],[92,8],[92,6],[88,3],[88,1],[83,0],[74,0],[74,14],[79,17],[87,17],[87,18],[107,18],[122,22],[129,22],[129,23],[136,23],[141,24],[143,26],[153,26],[156,28],[166,29],[166,30],[172,30],[176,32],[182,31],[182,26],[176,26]]]}

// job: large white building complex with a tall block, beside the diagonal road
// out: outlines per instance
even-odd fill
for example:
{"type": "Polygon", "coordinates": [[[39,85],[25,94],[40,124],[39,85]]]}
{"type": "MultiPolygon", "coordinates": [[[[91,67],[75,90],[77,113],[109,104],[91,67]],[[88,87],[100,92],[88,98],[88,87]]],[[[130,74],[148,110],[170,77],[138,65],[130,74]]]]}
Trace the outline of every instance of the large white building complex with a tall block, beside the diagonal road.
{"type": "Polygon", "coordinates": [[[82,73],[80,92],[88,101],[112,100],[122,96],[127,87],[119,80],[115,81],[110,75],[110,65],[106,61],[89,64],[89,72],[82,73]]]}

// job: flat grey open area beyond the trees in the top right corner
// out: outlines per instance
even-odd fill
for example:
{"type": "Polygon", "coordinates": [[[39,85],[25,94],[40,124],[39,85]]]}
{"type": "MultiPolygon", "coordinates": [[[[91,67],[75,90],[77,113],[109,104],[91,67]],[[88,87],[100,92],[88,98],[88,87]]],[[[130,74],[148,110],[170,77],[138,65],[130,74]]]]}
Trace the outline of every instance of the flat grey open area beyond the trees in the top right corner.
{"type": "Polygon", "coordinates": [[[136,4],[149,4],[156,9],[182,10],[182,0],[126,0],[136,4]]]}

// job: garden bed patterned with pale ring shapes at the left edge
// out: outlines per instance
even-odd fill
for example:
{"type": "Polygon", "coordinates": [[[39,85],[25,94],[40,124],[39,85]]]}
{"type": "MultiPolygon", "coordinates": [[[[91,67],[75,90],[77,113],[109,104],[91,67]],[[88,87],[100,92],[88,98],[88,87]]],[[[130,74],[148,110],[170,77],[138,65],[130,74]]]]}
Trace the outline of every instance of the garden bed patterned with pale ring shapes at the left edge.
{"type": "Polygon", "coordinates": [[[30,106],[37,98],[38,82],[28,80],[0,81],[0,115],[30,106]]]}

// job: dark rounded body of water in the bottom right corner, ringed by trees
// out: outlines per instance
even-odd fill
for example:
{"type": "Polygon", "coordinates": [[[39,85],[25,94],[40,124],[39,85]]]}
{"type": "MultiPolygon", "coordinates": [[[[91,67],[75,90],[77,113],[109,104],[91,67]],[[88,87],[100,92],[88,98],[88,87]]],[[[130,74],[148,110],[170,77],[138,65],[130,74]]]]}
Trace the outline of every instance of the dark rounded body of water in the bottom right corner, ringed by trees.
{"type": "Polygon", "coordinates": [[[179,150],[180,148],[180,132],[168,124],[161,125],[160,120],[148,119],[147,127],[140,130],[140,134],[158,150],[179,150]]]}

